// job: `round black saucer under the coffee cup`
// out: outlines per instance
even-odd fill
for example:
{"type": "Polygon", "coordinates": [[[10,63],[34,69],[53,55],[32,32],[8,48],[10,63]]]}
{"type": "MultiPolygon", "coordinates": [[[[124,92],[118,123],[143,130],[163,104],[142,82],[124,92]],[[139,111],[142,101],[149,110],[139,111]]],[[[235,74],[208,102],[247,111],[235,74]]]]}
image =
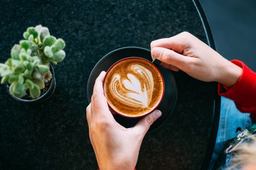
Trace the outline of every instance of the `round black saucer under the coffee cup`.
{"type": "MultiPolygon", "coordinates": [[[[100,75],[101,71],[107,71],[111,65],[115,62],[119,61],[122,58],[130,57],[130,56],[138,56],[141,58],[146,58],[149,61],[152,61],[150,50],[146,50],[144,48],[138,47],[125,47],[119,48],[109,54],[106,54],[94,67],[89,75],[89,80],[87,84],[87,99],[89,103],[91,102],[91,95],[94,89],[94,82],[98,75],[100,75]]],[[[175,79],[173,77],[173,73],[170,70],[163,69],[162,67],[158,66],[158,69],[161,71],[163,78],[165,80],[165,95],[162,99],[162,102],[158,106],[162,112],[162,116],[152,124],[150,127],[150,131],[158,128],[161,124],[163,124],[173,112],[175,107],[176,99],[177,99],[177,87],[175,83],[175,79]]],[[[125,126],[126,128],[134,126],[140,118],[125,118],[119,116],[118,114],[114,115],[114,118],[119,124],[125,126]]]]}

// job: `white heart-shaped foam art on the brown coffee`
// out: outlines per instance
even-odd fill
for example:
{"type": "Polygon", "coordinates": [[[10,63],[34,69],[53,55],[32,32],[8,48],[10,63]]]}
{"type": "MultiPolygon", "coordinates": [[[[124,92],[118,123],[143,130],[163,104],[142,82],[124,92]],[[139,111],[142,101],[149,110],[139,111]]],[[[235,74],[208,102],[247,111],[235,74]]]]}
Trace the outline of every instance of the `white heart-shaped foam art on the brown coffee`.
{"type": "Polygon", "coordinates": [[[133,64],[126,73],[114,73],[110,82],[113,96],[130,107],[145,108],[152,101],[154,80],[149,69],[133,64]]]}

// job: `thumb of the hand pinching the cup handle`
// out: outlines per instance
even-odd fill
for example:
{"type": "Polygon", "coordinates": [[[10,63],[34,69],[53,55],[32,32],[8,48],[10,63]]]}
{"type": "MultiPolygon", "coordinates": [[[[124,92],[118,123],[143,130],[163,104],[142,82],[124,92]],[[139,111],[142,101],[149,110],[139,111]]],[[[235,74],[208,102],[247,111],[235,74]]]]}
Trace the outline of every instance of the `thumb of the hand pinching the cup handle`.
{"type": "Polygon", "coordinates": [[[178,54],[173,50],[169,50],[167,48],[155,47],[151,51],[152,56],[158,58],[162,63],[166,63],[168,65],[173,65],[179,69],[183,69],[187,67],[189,63],[193,61],[194,58],[184,56],[182,54],[178,54]]]}

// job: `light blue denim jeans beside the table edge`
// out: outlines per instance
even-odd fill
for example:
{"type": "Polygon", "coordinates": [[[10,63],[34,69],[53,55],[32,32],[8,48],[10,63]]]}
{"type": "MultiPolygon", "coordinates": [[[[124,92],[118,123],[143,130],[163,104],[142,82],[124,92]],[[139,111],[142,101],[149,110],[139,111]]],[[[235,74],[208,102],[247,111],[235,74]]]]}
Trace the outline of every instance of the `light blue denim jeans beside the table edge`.
{"type": "MultiPolygon", "coordinates": [[[[246,129],[251,126],[250,114],[241,113],[237,108],[235,103],[225,97],[221,97],[221,115],[220,122],[218,124],[218,134],[216,138],[216,143],[214,147],[214,153],[212,154],[212,160],[208,169],[212,169],[215,161],[220,155],[223,154],[225,150],[224,143],[228,139],[236,137],[236,129],[240,127],[241,129],[246,129]]],[[[225,169],[224,167],[221,169],[225,169]]]]}

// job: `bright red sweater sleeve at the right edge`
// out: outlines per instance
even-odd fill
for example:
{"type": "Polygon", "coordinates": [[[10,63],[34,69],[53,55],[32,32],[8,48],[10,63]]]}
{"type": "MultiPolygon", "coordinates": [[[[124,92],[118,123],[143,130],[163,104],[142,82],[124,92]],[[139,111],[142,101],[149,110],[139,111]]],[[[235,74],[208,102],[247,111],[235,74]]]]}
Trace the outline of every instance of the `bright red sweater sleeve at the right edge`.
{"type": "Polygon", "coordinates": [[[251,113],[251,118],[256,119],[256,73],[241,61],[231,62],[242,68],[242,75],[228,90],[218,84],[218,95],[232,99],[240,112],[251,113]]]}

